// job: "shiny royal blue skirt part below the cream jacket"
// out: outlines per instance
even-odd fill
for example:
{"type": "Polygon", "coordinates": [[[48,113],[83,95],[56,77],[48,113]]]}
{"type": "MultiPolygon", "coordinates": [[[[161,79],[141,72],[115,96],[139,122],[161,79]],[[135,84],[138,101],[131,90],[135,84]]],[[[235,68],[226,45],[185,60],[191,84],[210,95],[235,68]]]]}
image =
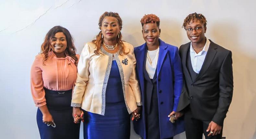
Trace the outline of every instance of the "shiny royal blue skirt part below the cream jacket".
{"type": "Polygon", "coordinates": [[[84,111],[84,139],[130,139],[130,115],[125,103],[106,103],[105,110],[105,115],[84,111]]]}

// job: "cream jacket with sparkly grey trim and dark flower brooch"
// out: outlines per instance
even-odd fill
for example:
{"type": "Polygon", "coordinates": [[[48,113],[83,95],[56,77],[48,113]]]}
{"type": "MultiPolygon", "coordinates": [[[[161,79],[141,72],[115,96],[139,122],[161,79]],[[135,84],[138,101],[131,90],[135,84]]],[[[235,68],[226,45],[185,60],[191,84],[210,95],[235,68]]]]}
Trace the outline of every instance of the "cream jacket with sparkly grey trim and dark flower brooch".
{"type": "Polygon", "coordinates": [[[87,112],[104,115],[105,93],[112,60],[116,60],[119,68],[124,101],[129,114],[137,109],[137,105],[142,105],[136,79],[134,47],[129,43],[123,43],[125,52],[130,51],[127,55],[119,55],[119,52],[111,54],[104,48],[100,49],[102,54],[96,55],[95,44],[89,42],[84,46],[77,65],[72,107],[81,107],[87,112]]]}

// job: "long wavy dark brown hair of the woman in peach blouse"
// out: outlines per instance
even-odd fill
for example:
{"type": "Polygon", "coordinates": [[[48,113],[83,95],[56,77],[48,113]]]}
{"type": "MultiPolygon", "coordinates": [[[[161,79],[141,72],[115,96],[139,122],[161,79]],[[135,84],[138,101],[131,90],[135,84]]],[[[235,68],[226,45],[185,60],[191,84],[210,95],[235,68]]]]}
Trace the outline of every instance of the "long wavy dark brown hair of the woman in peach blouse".
{"type": "Polygon", "coordinates": [[[67,56],[70,56],[72,59],[74,59],[75,60],[75,65],[77,66],[78,58],[76,57],[76,48],[75,48],[75,45],[74,45],[74,40],[73,40],[70,32],[66,28],[61,27],[61,26],[52,27],[48,31],[48,33],[46,34],[46,36],[44,38],[44,42],[41,45],[41,54],[43,54],[43,56],[44,56],[43,64],[44,64],[44,61],[46,61],[48,59],[49,52],[52,51],[52,47],[51,47],[52,37],[54,37],[55,34],[58,33],[58,32],[63,32],[63,34],[65,35],[66,40],[67,40],[67,48],[65,49],[65,54],[67,56]]]}

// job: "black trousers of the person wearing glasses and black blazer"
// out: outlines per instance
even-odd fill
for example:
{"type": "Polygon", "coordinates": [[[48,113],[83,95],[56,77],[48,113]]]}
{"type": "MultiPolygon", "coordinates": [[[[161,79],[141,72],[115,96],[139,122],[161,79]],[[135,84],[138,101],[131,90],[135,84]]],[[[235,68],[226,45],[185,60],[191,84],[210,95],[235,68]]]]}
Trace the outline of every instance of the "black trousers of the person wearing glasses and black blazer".
{"type": "Polygon", "coordinates": [[[202,121],[193,118],[190,106],[184,110],[184,122],[187,139],[202,139],[203,134],[205,139],[221,139],[222,137],[223,126],[220,134],[208,137],[207,135],[210,131],[206,132],[206,130],[211,121],[202,121]]]}

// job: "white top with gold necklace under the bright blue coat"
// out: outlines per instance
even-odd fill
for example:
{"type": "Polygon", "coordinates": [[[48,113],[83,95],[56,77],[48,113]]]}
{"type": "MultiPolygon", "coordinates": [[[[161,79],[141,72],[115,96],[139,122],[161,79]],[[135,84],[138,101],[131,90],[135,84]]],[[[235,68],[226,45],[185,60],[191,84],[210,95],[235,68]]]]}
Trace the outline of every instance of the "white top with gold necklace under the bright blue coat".
{"type": "Polygon", "coordinates": [[[158,55],[159,47],[153,51],[147,50],[146,71],[150,79],[154,78],[155,71],[157,68],[158,55]]]}

